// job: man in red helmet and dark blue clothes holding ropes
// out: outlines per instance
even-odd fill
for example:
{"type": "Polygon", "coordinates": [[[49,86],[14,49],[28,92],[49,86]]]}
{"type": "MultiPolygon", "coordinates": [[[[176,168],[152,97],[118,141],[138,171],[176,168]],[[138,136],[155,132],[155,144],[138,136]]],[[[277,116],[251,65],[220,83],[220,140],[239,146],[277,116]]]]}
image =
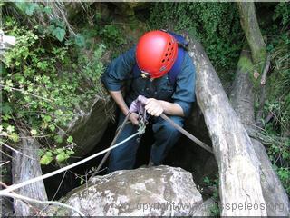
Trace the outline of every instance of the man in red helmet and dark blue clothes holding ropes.
{"type": "MultiPolygon", "coordinates": [[[[119,125],[129,113],[129,106],[139,95],[148,98],[145,109],[151,115],[155,143],[150,152],[150,164],[162,163],[169,149],[178,141],[180,133],[160,114],[169,115],[183,126],[195,100],[195,68],[184,49],[180,35],[165,31],[150,31],[140,37],[137,46],[114,59],[102,76],[102,82],[121,109],[119,125]],[[131,80],[126,96],[122,96],[124,82],[131,80]]],[[[116,143],[135,134],[139,115],[132,113],[116,143]]],[[[131,139],[111,151],[109,171],[132,169],[139,143],[131,139]]]]}

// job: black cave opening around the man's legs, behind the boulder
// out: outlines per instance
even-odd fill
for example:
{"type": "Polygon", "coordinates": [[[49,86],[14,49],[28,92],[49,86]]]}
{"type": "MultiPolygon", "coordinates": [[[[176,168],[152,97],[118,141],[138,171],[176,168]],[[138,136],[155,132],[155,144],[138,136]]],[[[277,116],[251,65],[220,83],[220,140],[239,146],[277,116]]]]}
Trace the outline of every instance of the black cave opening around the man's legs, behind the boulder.
{"type": "MultiPolygon", "coordinates": [[[[87,154],[83,158],[108,148],[114,138],[116,128],[117,124],[111,122],[103,134],[102,140],[96,144],[90,154],[87,154]]],[[[185,129],[187,129],[189,133],[194,134],[201,141],[211,145],[211,140],[208,136],[208,130],[203,115],[201,114],[197,104],[194,105],[193,112],[187,119],[185,129]]],[[[146,133],[143,134],[140,139],[135,168],[149,163],[150,148],[151,144],[154,143],[154,137],[152,137],[152,135],[151,124],[149,124],[146,127],[146,133]]],[[[85,183],[94,172],[92,168],[96,168],[101,163],[103,155],[77,166],[65,174],[61,173],[44,180],[49,199],[60,199],[66,193],[80,186],[82,183],[85,183]]],[[[184,170],[189,171],[192,173],[194,182],[201,187],[205,185],[203,180],[206,176],[208,178],[214,178],[215,174],[218,172],[218,164],[214,156],[199,147],[198,144],[190,141],[190,139],[184,135],[181,135],[177,144],[175,144],[169,151],[163,164],[173,167],[181,167],[184,170]]],[[[108,160],[103,165],[102,171],[97,175],[106,174],[107,165],[108,160]]],[[[52,171],[52,166],[43,167],[43,173],[48,173],[50,171],[52,171]]]]}

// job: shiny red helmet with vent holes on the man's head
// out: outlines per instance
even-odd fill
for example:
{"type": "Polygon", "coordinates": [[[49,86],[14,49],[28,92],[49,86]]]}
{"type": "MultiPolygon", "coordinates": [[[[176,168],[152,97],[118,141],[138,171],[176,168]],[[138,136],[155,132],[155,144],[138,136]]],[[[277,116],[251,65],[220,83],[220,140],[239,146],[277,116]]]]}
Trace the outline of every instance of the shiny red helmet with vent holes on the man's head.
{"type": "Polygon", "coordinates": [[[168,33],[150,31],[140,37],[136,49],[136,60],[140,70],[159,78],[167,74],[178,57],[178,43],[168,33]]]}

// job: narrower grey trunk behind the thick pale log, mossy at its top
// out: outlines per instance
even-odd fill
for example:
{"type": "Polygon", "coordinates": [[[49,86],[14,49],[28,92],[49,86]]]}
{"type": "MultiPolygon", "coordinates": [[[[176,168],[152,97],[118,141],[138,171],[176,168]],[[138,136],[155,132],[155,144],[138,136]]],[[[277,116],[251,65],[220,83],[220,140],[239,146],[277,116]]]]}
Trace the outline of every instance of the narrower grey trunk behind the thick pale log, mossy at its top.
{"type": "MultiPolygon", "coordinates": [[[[254,94],[253,84],[249,79],[251,74],[250,52],[243,50],[237,64],[236,78],[230,96],[233,105],[241,122],[246,127],[248,133],[253,135],[256,132],[254,116],[254,94]]],[[[289,200],[285,189],[272,168],[272,164],[266,154],[266,149],[256,139],[251,139],[260,166],[261,185],[263,196],[266,201],[266,212],[268,216],[287,216],[289,212],[289,200]]]]}

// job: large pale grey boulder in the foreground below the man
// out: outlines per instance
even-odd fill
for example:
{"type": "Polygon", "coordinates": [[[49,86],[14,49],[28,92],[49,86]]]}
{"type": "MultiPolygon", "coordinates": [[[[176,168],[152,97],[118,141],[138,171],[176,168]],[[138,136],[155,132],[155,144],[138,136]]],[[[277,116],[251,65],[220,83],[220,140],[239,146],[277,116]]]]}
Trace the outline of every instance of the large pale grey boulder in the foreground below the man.
{"type": "MultiPolygon", "coordinates": [[[[202,197],[191,173],[161,165],[93,177],[64,202],[87,216],[188,216],[195,213],[202,197]]],[[[78,214],[70,211],[66,215],[78,214]]]]}

